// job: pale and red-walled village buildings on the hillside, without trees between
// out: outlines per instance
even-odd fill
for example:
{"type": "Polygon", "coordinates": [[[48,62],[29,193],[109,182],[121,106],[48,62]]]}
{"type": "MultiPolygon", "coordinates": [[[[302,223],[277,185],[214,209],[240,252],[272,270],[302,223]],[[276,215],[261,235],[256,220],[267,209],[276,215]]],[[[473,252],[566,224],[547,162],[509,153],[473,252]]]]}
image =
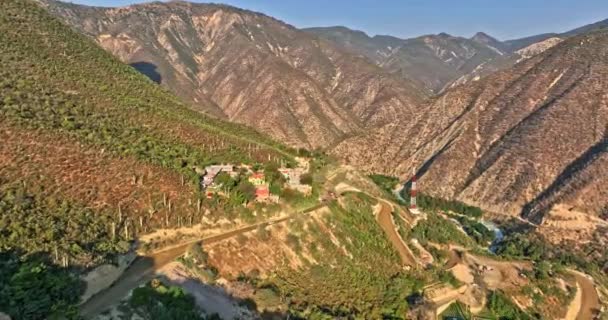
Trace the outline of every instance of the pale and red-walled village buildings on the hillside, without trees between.
{"type": "MultiPolygon", "coordinates": [[[[305,195],[312,193],[312,187],[302,183],[302,175],[309,172],[309,161],[305,158],[296,158],[297,166],[295,168],[287,168],[282,166],[278,171],[285,178],[285,187],[301,192],[305,195]]],[[[255,200],[258,202],[279,202],[279,196],[274,195],[270,192],[270,183],[267,181],[266,176],[263,172],[254,171],[251,166],[248,165],[233,165],[233,164],[222,164],[222,165],[210,165],[205,167],[204,170],[195,168],[197,174],[202,176],[201,187],[204,190],[208,198],[213,197],[214,194],[222,194],[222,186],[216,183],[217,176],[224,172],[232,178],[237,178],[240,175],[247,175],[248,181],[255,187],[255,200]]]]}

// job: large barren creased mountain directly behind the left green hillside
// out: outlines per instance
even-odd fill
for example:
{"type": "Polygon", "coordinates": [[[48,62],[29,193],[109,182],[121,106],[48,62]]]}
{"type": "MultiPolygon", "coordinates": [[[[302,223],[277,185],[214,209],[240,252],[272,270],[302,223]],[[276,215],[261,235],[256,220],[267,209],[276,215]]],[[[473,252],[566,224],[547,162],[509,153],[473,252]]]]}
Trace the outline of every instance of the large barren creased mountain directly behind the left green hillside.
{"type": "Polygon", "coordinates": [[[416,108],[411,83],[263,14],[186,2],[43,2],[202,111],[294,146],[326,147],[416,108]]]}

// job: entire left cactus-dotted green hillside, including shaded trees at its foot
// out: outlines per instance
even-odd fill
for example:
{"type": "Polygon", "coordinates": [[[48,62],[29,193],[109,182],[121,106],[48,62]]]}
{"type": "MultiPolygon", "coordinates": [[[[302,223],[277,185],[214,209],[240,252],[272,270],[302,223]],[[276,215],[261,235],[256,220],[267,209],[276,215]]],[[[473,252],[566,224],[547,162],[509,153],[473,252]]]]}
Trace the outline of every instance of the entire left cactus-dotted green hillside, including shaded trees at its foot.
{"type": "Polygon", "coordinates": [[[0,65],[0,310],[13,318],[73,313],[82,288],[56,265],[92,267],[137,234],[200,221],[196,167],[292,159],[190,110],[33,1],[0,2],[0,65]]]}

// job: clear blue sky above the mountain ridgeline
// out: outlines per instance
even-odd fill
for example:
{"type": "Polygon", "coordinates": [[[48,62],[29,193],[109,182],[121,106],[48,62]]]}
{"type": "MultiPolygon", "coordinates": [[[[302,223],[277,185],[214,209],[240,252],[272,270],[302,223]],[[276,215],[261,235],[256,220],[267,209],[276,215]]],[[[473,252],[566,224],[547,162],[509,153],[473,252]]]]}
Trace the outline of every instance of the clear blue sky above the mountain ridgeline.
{"type": "MultiPolygon", "coordinates": [[[[137,0],[71,0],[123,6],[137,0]]],[[[196,2],[208,2],[200,1],[196,2]]],[[[608,0],[216,0],[296,27],[344,25],[370,35],[414,37],[484,31],[501,40],[562,32],[608,19],[608,0]]]]}

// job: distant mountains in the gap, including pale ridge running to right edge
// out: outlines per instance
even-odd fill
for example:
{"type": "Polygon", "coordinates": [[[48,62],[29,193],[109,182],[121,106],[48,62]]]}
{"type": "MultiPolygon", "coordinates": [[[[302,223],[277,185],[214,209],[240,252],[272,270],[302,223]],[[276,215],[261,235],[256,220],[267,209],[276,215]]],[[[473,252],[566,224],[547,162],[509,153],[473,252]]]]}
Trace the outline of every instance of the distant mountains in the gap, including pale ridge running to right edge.
{"type": "Polygon", "coordinates": [[[305,31],[367,57],[431,94],[438,94],[509,68],[529,58],[531,53],[538,54],[550,48],[560,39],[607,26],[608,20],[604,20],[561,34],[546,33],[507,41],[499,41],[483,32],[470,39],[446,33],[399,39],[392,36],[370,37],[362,31],[346,27],[309,28],[305,31]]]}

